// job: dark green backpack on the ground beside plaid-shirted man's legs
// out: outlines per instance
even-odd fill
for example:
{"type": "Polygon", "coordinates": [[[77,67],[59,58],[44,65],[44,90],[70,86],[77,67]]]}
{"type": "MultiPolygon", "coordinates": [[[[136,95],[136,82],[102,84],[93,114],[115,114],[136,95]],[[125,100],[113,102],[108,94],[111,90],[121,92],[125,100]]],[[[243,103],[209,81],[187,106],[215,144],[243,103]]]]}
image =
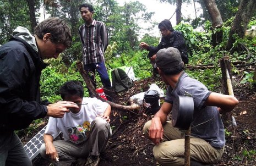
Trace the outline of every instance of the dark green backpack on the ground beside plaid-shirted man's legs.
{"type": "Polygon", "coordinates": [[[126,71],[116,68],[111,71],[112,87],[115,92],[127,91],[134,86],[133,80],[129,78],[126,71]]]}

